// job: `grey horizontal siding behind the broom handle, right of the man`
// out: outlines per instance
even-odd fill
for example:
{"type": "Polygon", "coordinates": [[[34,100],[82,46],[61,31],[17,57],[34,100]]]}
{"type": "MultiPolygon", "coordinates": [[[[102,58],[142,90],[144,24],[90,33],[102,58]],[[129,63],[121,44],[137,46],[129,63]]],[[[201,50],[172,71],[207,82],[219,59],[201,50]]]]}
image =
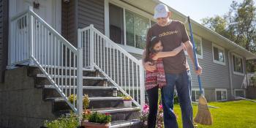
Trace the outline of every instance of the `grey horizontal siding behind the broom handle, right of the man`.
{"type": "MultiPolygon", "coordinates": [[[[212,44],[213,42],[202,39],[203,59],[198,59],[198,61],[200,66],[203,67],[203,74],[201,75],[203,88],[228,89],[230,88],[230,75],[227,50],[225,49],[225,65],[216,64],[213,61],[212,44]]],[[[187,58],[189,57],[187,56],[187,58]]],[[[192,86],[198,88],[197,76],[192,67],[193,64],[190,59],[187,60],[192,74],[192,86]]]]}

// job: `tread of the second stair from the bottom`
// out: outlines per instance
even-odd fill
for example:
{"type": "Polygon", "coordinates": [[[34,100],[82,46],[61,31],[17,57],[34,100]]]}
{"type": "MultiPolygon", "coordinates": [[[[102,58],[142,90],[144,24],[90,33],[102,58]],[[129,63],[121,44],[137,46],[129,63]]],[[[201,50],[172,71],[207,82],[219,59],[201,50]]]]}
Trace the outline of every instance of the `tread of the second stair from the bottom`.
{"type": "Polygon", "coordinates": [[[124,108],[124,107],[118,107],[118,108],[94,108],[89,109],[93,112],[98,113],[118,113],[118,112],[125,112],[125,111],[133,111],[133,110],[140,110],[138,107],[130,107],[130,108],[124,108]]]}

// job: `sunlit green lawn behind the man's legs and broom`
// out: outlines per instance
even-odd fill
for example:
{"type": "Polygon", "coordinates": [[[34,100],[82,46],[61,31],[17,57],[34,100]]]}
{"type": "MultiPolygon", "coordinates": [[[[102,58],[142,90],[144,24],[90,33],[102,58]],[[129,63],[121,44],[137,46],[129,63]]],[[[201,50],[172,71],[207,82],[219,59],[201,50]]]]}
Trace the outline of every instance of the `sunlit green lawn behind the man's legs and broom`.
{"type": "MultiPolygon", "coordinates": [[[[214,105],[219,108],[210,108],[211,116],[214,119],[212,128],[256,128],[256,102],[245,100],[233,102],[209,102],[208,105],[214,105]]],[[[197,106],[193,105],[194,117],[197,113],[197,106]]],[[[174,107],[178,115],[178,126],[182,128],[181,110],[179,105],[174,107]]],[[[198,128],[207,128],[198,124],[198,128]]],[[[209,128],[210,128],[209,127],[209,128]]]]}

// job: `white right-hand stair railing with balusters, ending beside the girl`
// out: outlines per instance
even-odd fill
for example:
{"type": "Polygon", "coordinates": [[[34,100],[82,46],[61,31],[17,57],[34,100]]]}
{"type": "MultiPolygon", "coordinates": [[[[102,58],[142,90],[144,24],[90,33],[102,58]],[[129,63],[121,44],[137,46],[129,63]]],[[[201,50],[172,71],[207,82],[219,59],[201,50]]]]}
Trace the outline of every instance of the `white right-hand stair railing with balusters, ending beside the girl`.
{"type": "Polygon", "coordinates": [[[138,107],[145,104],[144,70],[126,50],[111,41],[93,25],[78,29],[78,45],[83,50],[83,67],[97,68],[138,107]]]}

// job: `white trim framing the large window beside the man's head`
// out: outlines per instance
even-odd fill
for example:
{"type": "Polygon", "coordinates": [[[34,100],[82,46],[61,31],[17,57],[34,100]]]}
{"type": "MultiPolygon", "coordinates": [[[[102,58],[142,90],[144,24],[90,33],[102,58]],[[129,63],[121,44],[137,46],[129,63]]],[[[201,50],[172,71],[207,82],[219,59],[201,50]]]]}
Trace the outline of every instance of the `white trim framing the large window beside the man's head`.
{"type": "MultiPolygon", "coordinates": [[[[149,26],[151,26],[151,20],[154,21],[154,22],[157,22],[157,20],[155,20],[153,18],[153,15],[149,14],[148,12],[144,12],[143,10],[139,10],[138,8],[132,7],[131,5],[126,4],[122,1],[111,0],[111,1],[109,1],[109,4],[113,4],[113,5],[116,5],[117,7],[120,7],[121,9],[123,9],[123,13],[124,13],[123,14],[123,17],[124,17],[124,31],[125,31],[124,32],[124,45],[122,45],[122,44],[118,44],[118,45],[121,46],[121,48],[124,48],[125,50],[127,50],[129,53],[135,53],[135,54],[142,55],[144,49],[140,49],[140,48],[136,48],[136,47],[127,45],[127,36],[126,36],[127,31],[126,31],[126,24],[125,24],[125,22],[126,22],[125,13],[126,12],[125,11],[128,10],[129,12],[133,12],[137,15],[140,15],[143,18],[147,18],[149,26]]],[[[109,24],[108,24],[108,26],[109,26],[109,24]]]]}

